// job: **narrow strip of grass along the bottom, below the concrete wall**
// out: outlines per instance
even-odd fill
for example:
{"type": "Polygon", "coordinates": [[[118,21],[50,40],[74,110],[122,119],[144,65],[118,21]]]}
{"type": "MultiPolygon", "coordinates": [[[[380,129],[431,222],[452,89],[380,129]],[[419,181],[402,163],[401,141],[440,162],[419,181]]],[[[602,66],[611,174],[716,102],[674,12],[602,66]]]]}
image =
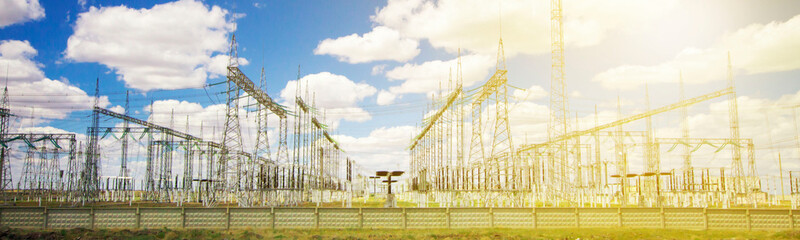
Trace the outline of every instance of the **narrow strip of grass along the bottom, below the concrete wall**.
{"type": "Polygon", "coordinates": [[[465,230],[21,230],[0,228],[0,239],[800,239],[800,231],[687,231],[662,229],[465,230]]]}

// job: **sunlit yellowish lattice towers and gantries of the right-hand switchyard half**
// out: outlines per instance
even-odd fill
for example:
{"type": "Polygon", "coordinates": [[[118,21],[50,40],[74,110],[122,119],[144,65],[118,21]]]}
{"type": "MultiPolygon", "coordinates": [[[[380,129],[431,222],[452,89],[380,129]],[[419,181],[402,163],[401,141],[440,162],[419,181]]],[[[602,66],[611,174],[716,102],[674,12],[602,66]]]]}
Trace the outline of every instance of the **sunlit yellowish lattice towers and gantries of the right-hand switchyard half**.
{"type": "Polygon", "coordinates": [[[547,140],[513,145],[519,140],[512,140],[508,124],[508,70],[501,39],[495,73],[485,83],[463,89],[459,58],[455,86],[448,85],[448,89],[432,97],[433,110],[424,116],[421,132],[409,145],[411,191],[405,198],[418,206],[433,203],[455,207],[727,208],[757,207],[767,201],[768,194],[761,190],[755,168],[753,141],[740,137],[730,55],[728,84],[721,90],[686,98],[681,74],[676,76],[680,78],[679,101],[651,109],[646,87],[646,111],[623,116],[618,103],[618,119],[601,124],[595,106],[594,126],[581,128],[578,114],[571,115],[569,111],[560,0],[551,1],[550,16],[552,65],[547,140]],[[691,138],[687,108],[722,97],[727,97],[729,104],[730,135],[691,138]],[[487,99],[494,101],[491,107],[487,107],[487,99]],[[652,117],[670,111],[681,111],[681,137],[657,137],[652,117]],[[639,120],[645,122],[644,131],[626,130],[626,125],[639,120]],[[464,144],[464,139],[471,139],[469,145],[464,144]],[[608,150],[606,141],[613,142],[612,150],[608,150]],[[663,168],[664,150],[669,152],[679,146],[682,166],[663,168]],[[696,167],[692,153],[706,147],[715,152],[731,151],[728,167],[696,167]],[[641,161],[642,172],[631,172],[634,159],[641,161]],[[743,163],[743,159],[747,162],[743,163]]]}

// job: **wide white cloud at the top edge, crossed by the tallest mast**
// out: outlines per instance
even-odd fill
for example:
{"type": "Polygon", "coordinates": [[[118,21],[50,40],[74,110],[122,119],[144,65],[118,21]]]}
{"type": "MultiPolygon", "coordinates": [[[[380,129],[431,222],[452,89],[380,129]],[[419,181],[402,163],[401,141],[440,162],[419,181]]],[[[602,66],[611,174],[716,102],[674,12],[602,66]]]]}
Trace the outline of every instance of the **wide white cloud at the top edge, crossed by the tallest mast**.
{"type": "MultiPolygon", "coordinates": [[[[566,44],[596,45],[615,30],[646,26],[674,5],[675,1],[565,1],[566,44]]],[[[506,54],[550,51],[549,1],[390,0],[372,21],[398,30],[403,37],[427,39],[432,46],[450,52],[460,47],[493,54],[500,37],[500,14],[506,54]]]]}

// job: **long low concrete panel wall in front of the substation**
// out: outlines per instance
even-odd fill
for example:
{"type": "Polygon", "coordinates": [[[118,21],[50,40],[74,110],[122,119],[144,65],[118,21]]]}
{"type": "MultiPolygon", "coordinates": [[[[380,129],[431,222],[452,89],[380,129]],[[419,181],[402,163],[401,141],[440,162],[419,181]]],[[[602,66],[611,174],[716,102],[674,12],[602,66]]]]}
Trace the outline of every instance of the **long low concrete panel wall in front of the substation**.
{"type": "Polygon", "coordinates": [[[705,208],[0,208],[12,228],[794,229],[800,210],[705,208]]]}

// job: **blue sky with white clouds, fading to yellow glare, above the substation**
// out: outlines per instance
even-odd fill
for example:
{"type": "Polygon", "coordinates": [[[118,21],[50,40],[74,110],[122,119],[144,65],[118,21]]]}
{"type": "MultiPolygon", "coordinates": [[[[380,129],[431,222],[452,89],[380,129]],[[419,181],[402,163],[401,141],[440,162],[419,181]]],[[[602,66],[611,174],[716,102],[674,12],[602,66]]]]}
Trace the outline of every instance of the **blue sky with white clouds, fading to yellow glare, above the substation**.
{"type": "MultiPolygon", "coordinates": [[[[484,82],[494,67],[502,24],[509,84],[528,89],[518,93],[510,90],[519,96],[512,98],[515,106],[510,113],[515,143],[523,143],[525,136],[531,143],[546,136],[549,1],[0,2],[7,6],[27,4],[2,10],[11,12],[3,12],[9,17],[0,18],[0,41],[27,41],[35,50],[35,54],[8,53],[0,58],[0,68],[33,69],[29,72],[32,74],[9,84],[16,114],[30,116],[30,107],[36,106],[33,118],[17,118],[15,126],[20,131],[51,127],[48,131],[84,133],[94,81],[99,77],[100,95],[108,98],[106,107],[124,105],[124,93],[131,90],[135,92],[131,115],[166,125],[166,112],[176,109],[176,115],[190,116],[190,132],[199,134],[198,119],[205,120],[204,127],[215,124],[213,106],[224,97],[217,94],[223,91],[221,85],[202,87],[224,80],[212,70],[217,66],[211,62],[213,57],[227,54],[218,40],[227,40],[235,33],[239,57],[248,63],[242,66],[243,71],[257,82],[264,67],[269,95],[279,101],[289,97],[294,85],[287,83],[297,77],[300,65],[301,77],[312,82],[313,95],[326,109],[328,124],[351,157],[369,170],[406,168],[408,153],[404,148],[420,124],[428,96],[437,90],[431,86],[437,86],[436,81],[446,85],[450,68],[455,69],[449,61],[456,58],[459,47],[465,61],[466,87],[475,88],[484,82]],[[165,10],[161,14],[151,11],[156,8],[165,10]],[[215,8],[220,15],[209,14],[215,8]],[[174,19],[158,21],[158,17],[174,19]],[[189,30],[184,32],[183,28],[189,30]],[[187,38],[182,33],[203,37],[187,38]],[[167,40],[156,40],[159,37],[167,40]],[[83,44],[71,49],[71,38],[83,44]],[[145,50],[131,47],[128,41],[145,50]],[[170,46],[181,50],[172,52],[170,46]],[[144,57],[119,54],[121,49],[144,57]],[[164,56],[175,59],[162,59],[164,56]],[[198,72],[207,77],[197,81],[190,76],[198,72]],[[166,75],[170,78],[162,78],[166,75]],[[55,81],[41,84],[60,84],[53,92],[77,96],[82,91],[88,96],[76,97],[70,103],[59,103],[59,94],[53,92],[33,96],[41,91],[24,83],[42,78],[55,81]],[[142,87],[147,79],[162,79],[160,86],[172,87],[142,87]],[[178,84],[180,81],[186,84],[178,84]],[[282,91],[287,86],[290,89],[285,94],[289,95],[284,96],[282,91]],[[70,87],[80,91],[65,90],[70,87]],[[147,108],[151,101],[163,106],[155,110],[156,114],[147,108]]],[[[721,89],[725,86],[725,54],[730,51],[741,99],[743,136],[762,146],[757,153],[764,159],[759,162],[759,172],[776,171],[770,164],[776,152],[800,159],[791,134],[791,106],[800,104],[800,45],[796,40],[800,39],[800,3],[566,1],[564,11],[570,109],[586,121],[582,126],[593,123],[595,105],[601,122],[614,120],[617,95],[624,103],[623,114],[643,111],[645,80],[654,107],[676,102],[677,71],[684,73],[689,96],[721,89]],[[772,135],[765,134],[765,116],[770,118],[772,135]],[[773,142],[788,140],[770,144],[770,138],[773,142]]],[[[7,46],[17,50],[25,47],[7,46]]],[[[693,107],[693,135],[726,137],[724,106],[724,99],[716,99],[693,107]]],[[[655,119],[657,132],[664,137],[672,136],[679,122],[677,113],[655,119]]],[[[175,125],[184,126],[185,120],[176,120],[175,125]]],[[[641,126],[634,123],[631,129],[641,126]]],[[[204,135],[210,137],[209,131],[204,128],[204,135]]],[[[725,158],[708,156],[712,157],[725,158]]],[[[726,163],[714,160],[707,165],[726,163]]],[[[800,170],[800,164],[790,163],[788,167],[800,170]]]]}

